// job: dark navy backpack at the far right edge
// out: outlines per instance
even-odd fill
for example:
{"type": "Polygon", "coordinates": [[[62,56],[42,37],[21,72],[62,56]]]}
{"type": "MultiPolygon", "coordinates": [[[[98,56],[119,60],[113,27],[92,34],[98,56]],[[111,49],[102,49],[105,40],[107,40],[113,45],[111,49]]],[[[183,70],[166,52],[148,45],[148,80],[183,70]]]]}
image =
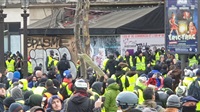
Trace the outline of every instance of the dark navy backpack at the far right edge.
{"type": "Polygon", "coordinates": [[[194,97],[197,100],[200,100],[200,86],[198,80],[192,82],[188,89],[188,95],[194,97]]]}

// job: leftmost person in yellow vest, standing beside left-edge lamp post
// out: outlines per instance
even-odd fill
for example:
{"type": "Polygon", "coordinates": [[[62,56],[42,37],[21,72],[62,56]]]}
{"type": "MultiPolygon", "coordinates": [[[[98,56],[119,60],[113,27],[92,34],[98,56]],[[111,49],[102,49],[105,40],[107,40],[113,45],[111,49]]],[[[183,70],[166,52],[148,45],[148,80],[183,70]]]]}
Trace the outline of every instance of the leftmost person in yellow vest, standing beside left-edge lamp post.
{"type": "Polygon", "coordinates": [[[15,71],[15,60],[11,59],[11,57],[8,57],[8,59],[6,60],[6,69],[8,72],[15,71]]]}

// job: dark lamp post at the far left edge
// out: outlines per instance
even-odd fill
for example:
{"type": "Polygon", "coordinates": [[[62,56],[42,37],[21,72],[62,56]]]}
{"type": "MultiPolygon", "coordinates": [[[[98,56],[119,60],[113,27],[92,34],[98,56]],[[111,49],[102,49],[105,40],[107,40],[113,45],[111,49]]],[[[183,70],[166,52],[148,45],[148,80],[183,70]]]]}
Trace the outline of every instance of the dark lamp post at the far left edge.
{"type": "Polygon", "coordinates": [[[6,6],[6,0],[0,1],[0,72],[5,72],[5,59],[4,59],[4,18],[3,8],[6,6]]]}

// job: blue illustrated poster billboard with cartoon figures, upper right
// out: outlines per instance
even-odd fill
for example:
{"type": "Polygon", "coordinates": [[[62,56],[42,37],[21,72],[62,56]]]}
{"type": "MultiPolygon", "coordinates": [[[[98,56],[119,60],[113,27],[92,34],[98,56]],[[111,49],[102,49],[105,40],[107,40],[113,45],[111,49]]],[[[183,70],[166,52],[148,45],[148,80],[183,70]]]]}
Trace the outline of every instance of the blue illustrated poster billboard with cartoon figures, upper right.
{"type": "Polygon", "coordinates": [[[194,54],[198,49],[198,0],[166,0],[166,50],[194,54]]]}

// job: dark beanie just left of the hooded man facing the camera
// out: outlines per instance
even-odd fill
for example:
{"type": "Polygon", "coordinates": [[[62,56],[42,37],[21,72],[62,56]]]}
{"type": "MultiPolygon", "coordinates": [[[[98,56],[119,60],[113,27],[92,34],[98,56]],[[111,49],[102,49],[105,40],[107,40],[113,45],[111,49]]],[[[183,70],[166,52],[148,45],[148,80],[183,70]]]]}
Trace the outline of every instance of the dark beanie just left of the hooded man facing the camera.
{"type": "Polygon", "coordinates": [[[33,94],[29,97],[29,106],[34,107],[34,106],[41,106],[42,103],[42,96],[38,94],[33,94]]]}

